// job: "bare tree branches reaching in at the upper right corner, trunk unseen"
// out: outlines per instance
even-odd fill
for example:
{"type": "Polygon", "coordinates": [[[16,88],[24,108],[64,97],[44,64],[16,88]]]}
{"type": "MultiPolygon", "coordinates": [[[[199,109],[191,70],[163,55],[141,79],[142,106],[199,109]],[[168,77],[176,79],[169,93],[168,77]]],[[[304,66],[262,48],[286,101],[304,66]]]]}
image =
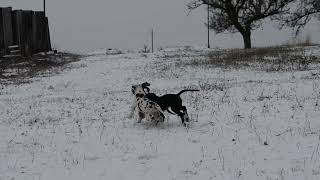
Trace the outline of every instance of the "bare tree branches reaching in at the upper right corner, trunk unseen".
{"type": "Polygon", "coordinates": [[[291,13],[278,18],[281,27],[291,27],[298,35],[303,27],[313,18],[320,20],[320,0],[298,0],[291,8],[291,13]]]}

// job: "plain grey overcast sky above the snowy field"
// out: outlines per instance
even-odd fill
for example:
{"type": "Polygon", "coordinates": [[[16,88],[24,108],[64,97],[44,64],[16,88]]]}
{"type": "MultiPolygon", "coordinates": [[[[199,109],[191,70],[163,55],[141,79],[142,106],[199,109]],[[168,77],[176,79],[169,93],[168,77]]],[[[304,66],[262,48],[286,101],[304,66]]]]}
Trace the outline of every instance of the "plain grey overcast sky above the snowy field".
{"type": "MultiPolygon", "coordinates": [[[[47,0],[47,16],[54,48],[87,52],[98,48],[141,49],[150,44],[155,30],[155,47],[206,46],[205,8],[188,15],[191,0],[47,0]]],[[[0,0],[0,6],[42,10],[43,0],[0,0]]],[[[320,22],[311,22],[309,34],[320,43],[320,22]]],[[[254,46],[279,45],[290,39],[289,30],[279,31],[266,22],[253,33],[254,46]]],[[[239,34],[211,33],[212,47],[242,47],[239,34]]]]}

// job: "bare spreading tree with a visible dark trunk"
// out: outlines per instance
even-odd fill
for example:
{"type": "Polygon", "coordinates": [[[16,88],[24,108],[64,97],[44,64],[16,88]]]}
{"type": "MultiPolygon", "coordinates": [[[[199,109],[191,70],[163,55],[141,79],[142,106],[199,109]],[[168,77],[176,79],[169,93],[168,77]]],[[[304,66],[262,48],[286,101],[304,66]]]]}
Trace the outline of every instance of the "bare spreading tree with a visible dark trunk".
{"type": "Polygon", "coordinates": [[[251,48],[251,32],[262,25],[262,20],[286,14],[296,0],[193,0],[190,10],[203,4],[210,6],[210,27],[216,33],[240,32],[245,48],[251,48]]]}

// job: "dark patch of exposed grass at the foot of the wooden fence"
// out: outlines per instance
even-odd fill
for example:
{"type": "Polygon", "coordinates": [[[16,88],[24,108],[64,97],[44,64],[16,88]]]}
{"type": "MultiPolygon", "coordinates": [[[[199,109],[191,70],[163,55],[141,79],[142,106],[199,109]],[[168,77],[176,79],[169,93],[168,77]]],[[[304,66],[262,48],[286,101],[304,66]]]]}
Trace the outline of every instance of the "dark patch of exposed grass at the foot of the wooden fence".
{"type": "Polygon", "coordinates": [[[0,58],[0,83],[27,83],[36,76],[46,76],[61,72],[66,65],[79,61],[80,55],[72,53],[36,54],[29,58],[0,58]]]}

